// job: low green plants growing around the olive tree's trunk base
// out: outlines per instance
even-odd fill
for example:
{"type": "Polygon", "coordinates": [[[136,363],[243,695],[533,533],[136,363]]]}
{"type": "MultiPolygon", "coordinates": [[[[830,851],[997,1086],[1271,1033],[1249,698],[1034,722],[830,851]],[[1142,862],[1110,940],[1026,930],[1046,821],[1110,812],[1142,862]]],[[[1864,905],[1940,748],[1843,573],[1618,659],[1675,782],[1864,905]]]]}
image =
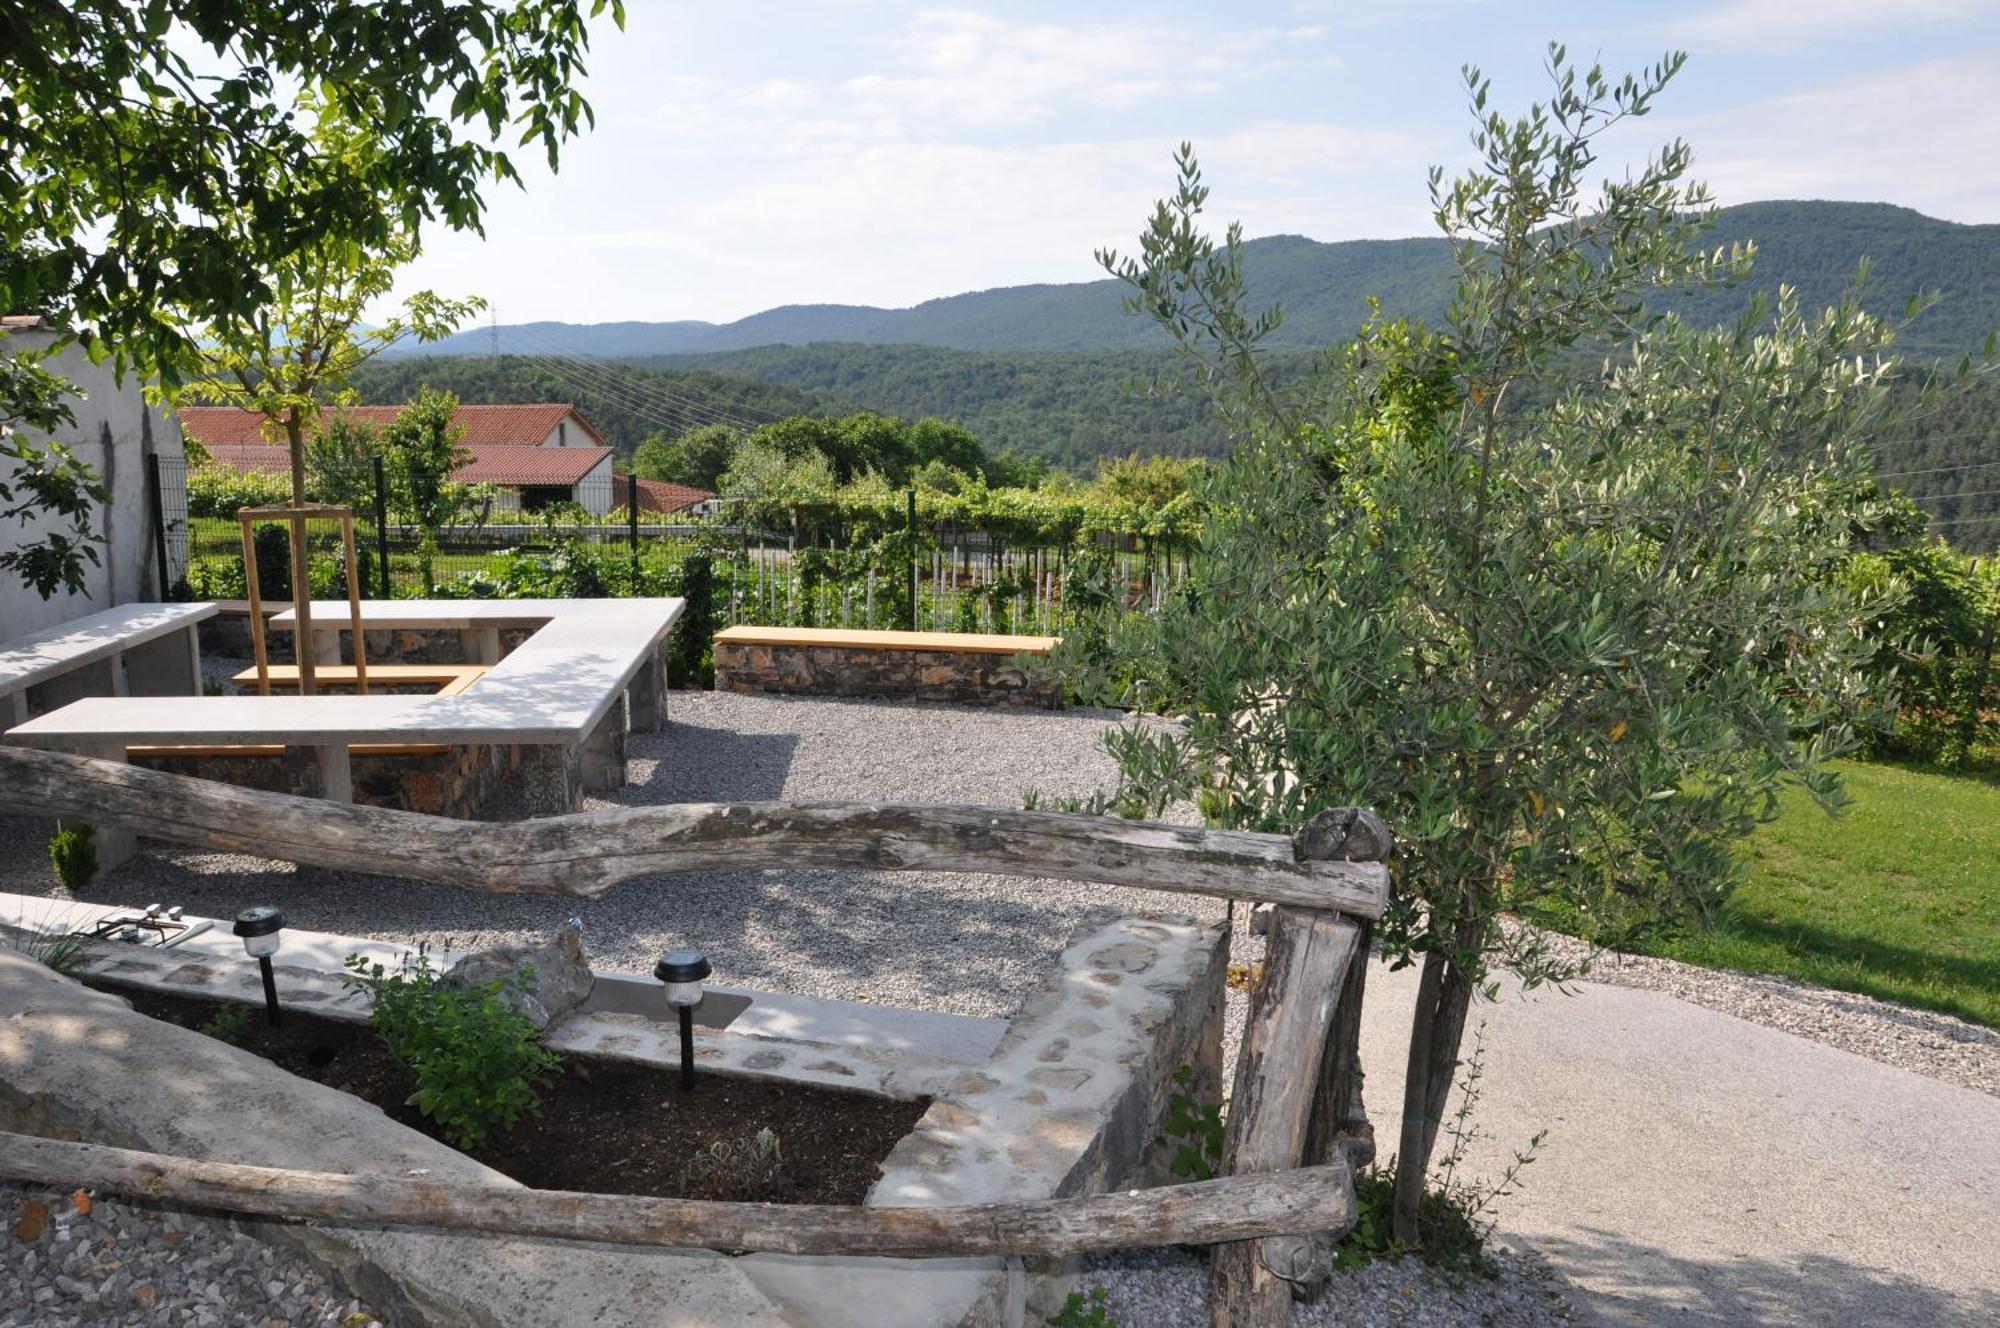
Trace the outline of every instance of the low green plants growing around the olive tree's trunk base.
{"type": "Polygon", "coordinates": [[[1542,1130],[1528,1146],[1514,1154],[1514,1160],[1492,1184],[1476,1184],[1464,1178],[1462,1166],[1466,1150],[1482,1132],[1472,1124],[1472,1110],[1480,1102],[1480,1078],[1486,1072],[1486,1024],[1472,1034],[1472,1056],[1466,1058],[1466,1074],[1458,1082],[1458,1110],[1444,1124],[1450,1146],[1432,1168],[1432,1180],[1424,1188],[1424,1202],[1418,1208],[1416,1248],[1396,1240],[1392,1232],[1392,1210],[1396,1200],[1396,1160],[1372,1166],[1354,1178],[1354,1202],[1360,1216],[1354,1230],[1342,1238],[1334,1250],[1336,1268],[1360,1268],[1376,1258],[1402,1258],[1418,1254],[1426,1264],[1454,1274],[1492,1276],[1492,1262],[1486,1258],[1486,1238],[1494,1230],[1494,1208],[1500,1200],[1520,1192],[1520,1176],[1534,1162],[1534,1154],[1548,1138],[1542,1130]]]}

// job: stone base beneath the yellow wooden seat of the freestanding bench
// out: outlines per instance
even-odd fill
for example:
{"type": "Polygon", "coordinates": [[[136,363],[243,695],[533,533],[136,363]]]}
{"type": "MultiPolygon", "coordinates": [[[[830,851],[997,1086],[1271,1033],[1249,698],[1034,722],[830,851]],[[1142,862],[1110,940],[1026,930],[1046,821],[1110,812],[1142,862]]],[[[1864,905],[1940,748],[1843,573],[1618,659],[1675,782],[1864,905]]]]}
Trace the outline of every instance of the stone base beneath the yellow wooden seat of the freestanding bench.
{"type": "Polygon", "coordinates": [[[894,700],[1060,706],[1062,684],[1024,656],[972,650],[858,650],[716,642],[718,692],[886,696],[894,700]]]}

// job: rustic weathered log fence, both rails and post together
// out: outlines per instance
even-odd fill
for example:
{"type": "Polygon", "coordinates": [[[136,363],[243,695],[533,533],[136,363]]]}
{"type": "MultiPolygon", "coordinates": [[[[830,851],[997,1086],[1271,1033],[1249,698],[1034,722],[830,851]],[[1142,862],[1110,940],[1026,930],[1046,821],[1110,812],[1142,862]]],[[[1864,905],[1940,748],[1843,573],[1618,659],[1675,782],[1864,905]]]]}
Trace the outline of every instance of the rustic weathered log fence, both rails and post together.
{"type": "Polygon", "coordinates": [[[1272,904],[1212,1182],[962,1208],[814,1208],[374,1186],[0,1134],[0,1176],[236,1212],[362,1218],[620,1244],[900,1258],[1214,1248],[1218,1328],[1278,1328],[1356,1220],[1366,928],[1388,904],[1388,832],[1366,810],[1298,840],[1112,816],[874,802],[674,804],[458,822],[268,794],[116,760],[0,746],[14,814],[494,892],[594,898],[650,874],[758,868],[998,872],[1272,904]]]}

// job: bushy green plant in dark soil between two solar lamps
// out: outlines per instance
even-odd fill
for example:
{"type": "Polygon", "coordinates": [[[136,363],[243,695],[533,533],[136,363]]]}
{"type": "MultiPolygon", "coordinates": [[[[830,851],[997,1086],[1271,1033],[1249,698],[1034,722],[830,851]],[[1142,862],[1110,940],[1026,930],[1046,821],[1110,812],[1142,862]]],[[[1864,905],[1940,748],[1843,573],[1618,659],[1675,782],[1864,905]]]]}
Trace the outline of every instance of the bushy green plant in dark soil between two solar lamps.
{"type": "Polygon", "coordinates": [[[438,1122],[456,1148],[478,1148],[542,1112],[542,1094],[562,1068],[538,1040],[520,998],[534,982],[520,968],[504,982],[446,986],[418,946],[398,972],[360,954],[346,958],[342,984],[374,1002],[368,1022],[396,1060],[416,1072],[408,1102],[438,1122]]]}

